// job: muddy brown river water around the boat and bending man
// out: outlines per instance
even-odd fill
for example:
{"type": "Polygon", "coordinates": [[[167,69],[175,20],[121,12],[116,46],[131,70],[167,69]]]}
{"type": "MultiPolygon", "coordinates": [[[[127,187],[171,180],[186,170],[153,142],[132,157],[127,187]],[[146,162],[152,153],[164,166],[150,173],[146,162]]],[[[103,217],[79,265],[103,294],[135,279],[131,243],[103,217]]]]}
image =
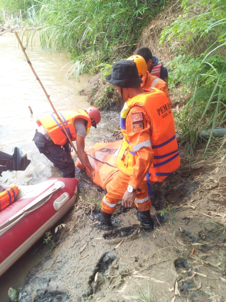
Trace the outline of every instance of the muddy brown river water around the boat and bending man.
{"type": "MultiPolygon", "coordinates": [[[[25,43],[24,39],[23,45],[25,43]]],[[[80,89],[88,85],[89,76],[82,75],[80,82],[75,81],[73,77],[66,79],[65,75],[72,64],[65,66],[70,63],[70,59],[66,58],[64,53],[48,55],[42,53],[39,49],[38,37],[33,47],[28,44],[26,52],[57,111],[86,109],[90,106],[86,97],[79,94],[80,89]]],[[[51,177],[60,177],[61,172],[39,153],[32,141],[37,127],[37,118],[43,114],[52,113],[53,110],[26,62],[14,33],[0,35],[0,66],[0,150],[12,154],[14,147],[22,147],[24,154],[27,153],[28,159],[31,160],[25,171],[3,172],[0,177],[1,184],[33,185],[51,177]],[[31,107],[33,114],[30,113],[28,106],[31,107]]],[[[97,141],[110,138],[111,133],[107,129],[115,129],[117,124],[103,117],[102,113],[100,124],[96,129],[91,127],[85,139],[86,149],[97,141]]],[[[75,153],[72,153],[72,156],[74,157],[75,153]]],[[[80,179],[81,175],[77,177],[80,188],[95,188],[84,172],[82,179],[80,179]]],[[[8,288],[21,289],[28,272],[45,257],[47,249],[42,248],[39,252],[36,252],[36,249],[37,247],[34,246],[0,277],[1,302],[10,301],[7,294],[8,288]]]]}

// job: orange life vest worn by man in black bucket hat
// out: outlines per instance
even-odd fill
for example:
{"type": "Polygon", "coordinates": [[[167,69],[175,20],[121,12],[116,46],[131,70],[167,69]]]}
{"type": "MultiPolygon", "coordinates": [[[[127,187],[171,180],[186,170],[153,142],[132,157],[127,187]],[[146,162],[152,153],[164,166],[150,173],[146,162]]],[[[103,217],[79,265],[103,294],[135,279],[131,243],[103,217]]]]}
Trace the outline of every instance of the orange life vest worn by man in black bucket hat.
{"type": "Polygon", "coordinates": [[[152,182],[162,182],[180,166],[174,117],[164,92],[157,88],[144,89],[144,91],[145,93],[125,102],[121,111],[120,126],[124,138],[116,165],[121,172],[130,175],[136,164],[137,154],[127,140],[126,117],[133,106],[142,106],[149,117],[150,141],[154,151],[154,160],[148,178],[152,182]]]}

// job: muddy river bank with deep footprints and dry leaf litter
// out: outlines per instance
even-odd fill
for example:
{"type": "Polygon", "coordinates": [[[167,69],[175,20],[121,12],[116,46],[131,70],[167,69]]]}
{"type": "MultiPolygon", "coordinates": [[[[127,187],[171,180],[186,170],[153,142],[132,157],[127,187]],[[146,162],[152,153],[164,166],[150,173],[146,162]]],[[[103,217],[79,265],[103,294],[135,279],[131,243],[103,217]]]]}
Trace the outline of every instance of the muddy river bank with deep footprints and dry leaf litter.
{"type": "Polygon", "coordinates": [[[153,232],[120,205],[113,229],[101,228],[90,216],[101,193],[80,194],[19,302],[226,301],[224,157],[189,163],[180,154],[181,167],[153,187],[153,232]]]}

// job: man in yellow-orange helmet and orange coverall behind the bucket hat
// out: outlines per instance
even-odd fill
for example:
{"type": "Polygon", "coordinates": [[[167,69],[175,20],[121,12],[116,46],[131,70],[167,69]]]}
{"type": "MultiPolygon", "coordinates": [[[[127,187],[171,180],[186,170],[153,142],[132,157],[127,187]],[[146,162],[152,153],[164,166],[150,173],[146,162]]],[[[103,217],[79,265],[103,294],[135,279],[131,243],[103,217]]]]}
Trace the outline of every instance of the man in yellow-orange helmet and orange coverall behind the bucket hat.
{"type": "Polygon", "coordinates": [[[132,60],[137,64],[137,69],[139,72],[139,76],[141,77],[143,83],[141,83],[142,88],[158,88],[159,90],[162,90],[169,102],[169,105],[171,107],[171,99],[169,96],[169,89],[168,85],[165,81],[163,81],[160,78],[157,78],[156,76],[152,76],[148,71],[147,71],[147,64],[145,62],[145,59],[142,56],[139,55],[133,55],[127,58],[127,60],[132,60]]]}

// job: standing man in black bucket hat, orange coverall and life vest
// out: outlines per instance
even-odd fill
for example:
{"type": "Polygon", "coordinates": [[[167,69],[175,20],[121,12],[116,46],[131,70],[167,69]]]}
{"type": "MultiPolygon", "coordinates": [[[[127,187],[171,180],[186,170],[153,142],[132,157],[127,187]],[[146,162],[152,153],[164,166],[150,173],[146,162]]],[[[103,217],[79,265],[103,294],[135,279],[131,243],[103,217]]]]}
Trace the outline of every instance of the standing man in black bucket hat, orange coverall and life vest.
{"type": "Polygon", "coordinates": [[[180,166],[174,118],[164,92],[142,89],[142,79],[132,60],[113,64],[105,79],[125,101],[120,118],[124,138],[116,159],[119,172],[106,185],[102,210],[93,214],[94,220],[111,226],[111,215],[122,198],[122,206],[136,206],[138,220],[150,231],[149,185],[162,182],[180,166]]]}

